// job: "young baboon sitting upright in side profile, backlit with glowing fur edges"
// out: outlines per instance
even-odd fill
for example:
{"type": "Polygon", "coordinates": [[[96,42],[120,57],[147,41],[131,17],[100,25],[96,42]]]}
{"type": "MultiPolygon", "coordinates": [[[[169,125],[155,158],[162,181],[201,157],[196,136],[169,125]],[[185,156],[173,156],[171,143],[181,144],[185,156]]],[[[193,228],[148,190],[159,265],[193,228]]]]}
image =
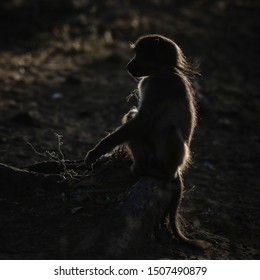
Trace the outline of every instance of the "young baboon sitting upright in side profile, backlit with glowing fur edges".
{"type": "Polygon", "coordinates": [[[85,157],[87,167],[114,147],[126,143],[137,176],[154,176],[177,185],[167,212],[173,234],[197,247],[202,240],[184,236],[178,220],[183,193],[182,172],[190,161],[190,142],[196,126],[196,104],[191,78],[198,67],[187,61],[180,47],[161,35],[146,35],[131,44],[135,52],[126,68],[139,79],[138,107],[123,124],[102,139],[85,157]]]}

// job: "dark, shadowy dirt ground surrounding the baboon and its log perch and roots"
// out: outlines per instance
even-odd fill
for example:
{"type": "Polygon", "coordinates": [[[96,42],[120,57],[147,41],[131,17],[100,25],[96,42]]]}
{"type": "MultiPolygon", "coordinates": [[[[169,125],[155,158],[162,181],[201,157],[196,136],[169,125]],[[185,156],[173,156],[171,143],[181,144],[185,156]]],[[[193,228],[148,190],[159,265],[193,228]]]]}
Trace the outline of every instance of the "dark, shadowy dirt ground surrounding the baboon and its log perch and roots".
{"type": "MultiPolygon", "coordinates": [[[[259,259],[258,1],[118,2],[1,1],[0,162],[24,168],[44,160],[28,143],[57,152],[54,133],[63,136],[66,159],[83,159],[134,104],[127,102],[136,87],[125,71],[129,42],[163,34],[201,64],[182,214],[191,235],[214,245],[197,252],[154,241],[136,258],[259,259]]],[[[109,166],[89,180],[92,191],[46,186],[6,195],[1,183],[0,259],[69,258],[78,233],[134,183],[129,162],[109,166]]]]}

